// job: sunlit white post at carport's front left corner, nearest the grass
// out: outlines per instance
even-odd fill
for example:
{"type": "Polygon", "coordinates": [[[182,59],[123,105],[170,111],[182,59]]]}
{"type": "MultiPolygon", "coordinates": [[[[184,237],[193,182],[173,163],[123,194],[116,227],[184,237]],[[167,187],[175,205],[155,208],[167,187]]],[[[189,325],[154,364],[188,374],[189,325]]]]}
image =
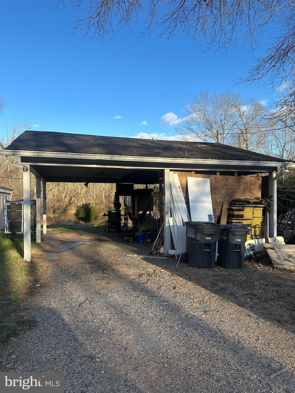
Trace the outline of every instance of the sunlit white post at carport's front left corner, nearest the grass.
{"type": "Polygon", "coordinates": [[[24,260],[31,261],[31,173],[30,165],[24,166],[24,260]]]}

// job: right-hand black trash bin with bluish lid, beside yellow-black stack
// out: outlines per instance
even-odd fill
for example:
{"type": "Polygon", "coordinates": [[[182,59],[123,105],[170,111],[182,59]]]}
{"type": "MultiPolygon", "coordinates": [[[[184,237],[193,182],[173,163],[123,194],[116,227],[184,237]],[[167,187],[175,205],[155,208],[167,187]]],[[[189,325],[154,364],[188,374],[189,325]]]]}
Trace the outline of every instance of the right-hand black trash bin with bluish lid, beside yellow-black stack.
{"type": "Polygon", "coordinates": [[[249,228],[223,225],[219,233],[217,263],[226,269],[242,269],[249,228]]]}

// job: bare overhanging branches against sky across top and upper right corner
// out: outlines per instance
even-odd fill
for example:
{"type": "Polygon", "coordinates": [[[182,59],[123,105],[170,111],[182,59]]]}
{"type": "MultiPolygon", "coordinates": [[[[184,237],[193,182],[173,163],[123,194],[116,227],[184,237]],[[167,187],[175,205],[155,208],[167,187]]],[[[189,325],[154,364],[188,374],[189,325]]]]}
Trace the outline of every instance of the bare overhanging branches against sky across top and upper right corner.
{"type": "Polygon", "coordinates": [[[249,41],[252,48],[269,22],[276,29],[270,37],[269,49],[257,59],[247,80],[267,75],[271,81],[293,77],[295,62],[295,6],[291,0],[56,0],[57,5],[71,2],[76,11],[72,28],[85,35],[113,37],[124,28],[144,20],[146,31],[171,37],[180,32],[203,48],[227,50],[238,40],[249,41]]]}

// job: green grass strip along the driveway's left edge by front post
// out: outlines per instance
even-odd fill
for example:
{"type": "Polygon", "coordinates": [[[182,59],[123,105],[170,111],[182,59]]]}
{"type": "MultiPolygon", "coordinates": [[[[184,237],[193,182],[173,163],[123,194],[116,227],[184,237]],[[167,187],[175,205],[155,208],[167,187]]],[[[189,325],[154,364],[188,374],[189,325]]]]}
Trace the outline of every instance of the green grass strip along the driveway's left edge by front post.
{"type": "MultiPolygon", "coordinates": [[[[33,254],[39,245],[32,243],[33,254]]],[[[0,342],[6,343],[19,328],[31,328],[32,323],[18,318],[18,310],[36,281],[38,268],[22,258],[24,242],[21,237],[0,236],[0,342]]]]}

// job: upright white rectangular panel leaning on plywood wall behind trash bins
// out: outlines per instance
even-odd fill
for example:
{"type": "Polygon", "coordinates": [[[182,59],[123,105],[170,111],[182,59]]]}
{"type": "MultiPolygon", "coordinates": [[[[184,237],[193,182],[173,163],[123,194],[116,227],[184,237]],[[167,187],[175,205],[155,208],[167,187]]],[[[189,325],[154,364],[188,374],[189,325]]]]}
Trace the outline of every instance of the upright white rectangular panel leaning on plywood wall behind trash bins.
{"type": "Polygon", "coordinates": [[[187,187],[191,220],[214,222],[210,179],[188,177],[187,187]]]}

